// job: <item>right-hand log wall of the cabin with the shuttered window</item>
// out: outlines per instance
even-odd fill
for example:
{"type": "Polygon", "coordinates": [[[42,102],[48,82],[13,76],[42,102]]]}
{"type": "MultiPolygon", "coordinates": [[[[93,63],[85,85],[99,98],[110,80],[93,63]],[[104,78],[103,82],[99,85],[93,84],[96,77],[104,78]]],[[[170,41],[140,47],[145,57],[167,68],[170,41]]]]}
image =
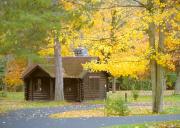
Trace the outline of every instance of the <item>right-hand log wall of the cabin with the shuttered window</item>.
{"type": "Polygon", "coordinates": [[[105,73],[88,73],[83,80],[84,100],[104,99],[106,97],[107,76],[105,73]],[[90,82],[92,78],[98,78],[99,84],[96,88],[90,82]]]}

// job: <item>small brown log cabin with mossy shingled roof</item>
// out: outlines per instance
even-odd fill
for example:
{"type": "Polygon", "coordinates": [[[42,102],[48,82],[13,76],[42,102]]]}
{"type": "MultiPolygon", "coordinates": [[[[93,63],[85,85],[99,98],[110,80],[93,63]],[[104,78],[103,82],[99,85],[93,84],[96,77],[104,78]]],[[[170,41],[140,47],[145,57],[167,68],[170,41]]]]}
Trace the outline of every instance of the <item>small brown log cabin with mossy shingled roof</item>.
{"type": "MultiPolygon", "coordinates": [[[[95,57],[63,57],[65,100],[84,101],[106,97],[107,74],[89,72],[82,64],[95,57]]],[[[23,74],[26,100],[54,100],[55,67],[34,64],[23,74]]]]}

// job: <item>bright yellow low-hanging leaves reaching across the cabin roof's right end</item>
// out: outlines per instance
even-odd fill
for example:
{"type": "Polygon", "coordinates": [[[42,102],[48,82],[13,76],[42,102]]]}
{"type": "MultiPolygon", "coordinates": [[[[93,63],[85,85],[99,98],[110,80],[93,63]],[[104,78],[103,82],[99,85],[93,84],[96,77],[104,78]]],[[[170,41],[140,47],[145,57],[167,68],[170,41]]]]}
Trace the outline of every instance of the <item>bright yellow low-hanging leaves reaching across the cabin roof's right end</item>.
{"type": "Polygon", "coordinates": [[[138,57],[133,56],[113,56],[108,62],[92,61],[83,66],[91,71],[107,71],[115,77],[132,76],[136,77],[138,74],[143,74],[147,70],[149,61],[139,60],[138,57]]]}

